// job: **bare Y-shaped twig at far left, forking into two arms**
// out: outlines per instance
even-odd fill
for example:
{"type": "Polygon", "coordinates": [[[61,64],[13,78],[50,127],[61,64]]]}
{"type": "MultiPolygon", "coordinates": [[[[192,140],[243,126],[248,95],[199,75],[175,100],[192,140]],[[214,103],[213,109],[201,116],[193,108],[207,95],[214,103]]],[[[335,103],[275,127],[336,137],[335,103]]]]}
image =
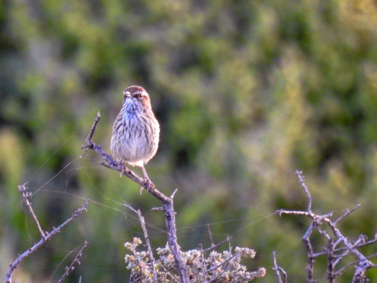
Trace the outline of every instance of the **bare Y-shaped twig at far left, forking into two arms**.
{"type": "Polygon", "coordinates": [[[30,202],[30,199],[31,199],[31,194],[27,192],[27,189],[25,187],[25,185],[23,186],[19,186],[18,187],[18,190],[20,191],[22,197],[23,197],[23,200],[26,204],[26,206],[28,206],[28,209],[33,217],[33,220],[34,222],[36,223],[37,227],[38,227],[38,230],[40,231],[41,233],[41,240],[38,241],[38,243],[36,243],[34,246],[32,246],[31,248],[29,248],[27,251],[25,251],[23,254],[21,254],[13,263],[11,263],[9,266],[10,266],[10,269],[8,270],[8,272],[6,272],[5,274],[5,283],[11,283],[11,276],[12,276],[12,272],[14,271],[14,269],[17,268],[17,266],[21,263],[22,260],[24,260],[26,257],[28,257],[29,255],[32,254],[32,252],[36,251],[38,248],[40,248],[44,243],[46,243],[46,241],[48,240],[51,240],[51,238],[60,232],[60,230],[66,226],[68,223],[70,223],[72,220],[74,220],[75,218],[77,218],[81,212],[83,211],[86,211],[86,207],[90,201],[87,200],[86,203],[83,205],[82,208],[79,208],[77,209],[70,218],[68,218],[63,224],[61,224],[60,226],[58,226],[58,228],[55,228],[55,227],[52,227],[52,231],[51,232],[43,232],[43,230],[41,229],[41,226],[39,224],[39,221],[31,207],[31,202],[30,202]]]}

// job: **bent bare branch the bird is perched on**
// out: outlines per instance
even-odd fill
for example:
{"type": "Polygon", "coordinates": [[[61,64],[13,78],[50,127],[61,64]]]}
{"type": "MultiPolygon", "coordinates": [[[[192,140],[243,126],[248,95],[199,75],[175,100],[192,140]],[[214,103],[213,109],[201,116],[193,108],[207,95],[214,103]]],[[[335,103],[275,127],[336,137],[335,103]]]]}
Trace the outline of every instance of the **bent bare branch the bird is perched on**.
{"type": "MultiPolygon", "coordinates": [[[[102,149],[101,145],[96,145],[92,138],[95,131],[95,128],[100,121],[101,115],[100,112],[97,113],[97,117],[95,118],[92,128],[86,138],[86,145],[83,145],[81,149],[85,149],[85,152],[81,157],[83,157],[89,149],[93,149],[97,154],[102,157],[105,161],[101,162],[102,165],[106,166],[107,168],[119,171],[121,175],[126,175],[131,180],[138,183],[140,186],[143,186],[147,189],[147,183],[144,181],[143,178],[136,175],[133,171],[128,168],[125,168],[123,163],[115,161],[110,155],[106,154],[102,149]]],[[[164,211],[164,218],[165,224],[167,228],[168,234],[168,244],[169,248],[171,249],[173,256],[175,258],[175,265],[178,271],[179,276],[182,279],[183,283],[188,283],[189,277],[187,275],[185,263],[179,251],[178,243],[177,243],[177,236],[176,236],[176,227],[175,227],[175,212],[173,208],[173,195],[167,197],[166,195],[162,194],[162,192],[158,191],[153,183],[150,183],[148,192],[158,198],[159,201],[162,203],[162,210],[164,211]]]]}

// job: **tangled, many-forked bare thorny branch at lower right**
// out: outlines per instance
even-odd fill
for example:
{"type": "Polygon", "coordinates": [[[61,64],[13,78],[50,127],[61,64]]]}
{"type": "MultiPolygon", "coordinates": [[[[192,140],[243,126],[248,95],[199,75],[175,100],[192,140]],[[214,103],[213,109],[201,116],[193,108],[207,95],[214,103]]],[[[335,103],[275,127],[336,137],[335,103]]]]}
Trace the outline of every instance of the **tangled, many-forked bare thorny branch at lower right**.
{"type": "MultiPolygon", "coordinates": [[[[308,191],[307,186],[305,185],[305,178],[302,175],[301,171],[296,171],[297,178],[300,182],[300,185],[307,197],[308,200],[308,208],[307,211],[289,211],[285,209],[279,209],[276,212],[279,213],[281,216],[282,214],[292,214],[292,215],[305,215],[307,217],[310,217],[312,219],[312,222],[307,229],[307,232],[302,237],[302,240],[305,244],[305,247],[307,249],[307,267],[305,268],[305,271],[307,273],[307,282],[312,283],[316,282],[316,280],[313,280],[313,265],[314,265],[314,258],[319,257],[320,255],[326,255],[327,260],[327,278],[330,283],[333,283],[335,278],[339,276],[345,268],[357,264],[354,277],[352,279],[352,283],[359,283],[359,282],[366,282],[365,277],[365,271],[369,268],[376,267],[376,264],[373,264],[371,261],[369,261],[369,258],[374,257],[365,257],[361,252],[358,251],[358,248],[361,248],[365,245],[376,243],[377,242],[377,235],[375,235],[374,239],[371,241],[366,242],[366,237],[361,235],[354,243],[350,242],[340,231],[338,228],[336,228],[336,224],[342,220],[344,217],[348,216],[351,212],[355,211],[360,204],[356,205],[351,210],[346,210],[346,212],[341,215],[339,218],[337,218],[335,221],[332,221],[329,217],[332,216],[332,212],[324,215],[318,215],[314,214],[311,210],[311,195],[308,191]],[[321,227],[323,223],[326,223],[327,226],[331,229],[332,235],[330,235],[328,232],[323,230],[321,227]],[[320,234],[322,234],[326,240],[327,240],[327,246],[325,248],[325,251],[314,253],[313,247],[311,245],[310,236],[314,230],[317,230],[320,234]],[[337,245],[340,243],[343,244],[343,247],[336,248],[337,245]],[[343,257],[348,255],[355,255],[358,260],[354,261],[352,264],[346,265],[345,267],[338,269],[338,271],[335,270],[335,267],[337,263],[339,263],[343,257]]],[[[276,266],[275,266],[276,269],[276,266]]],[[[279,281],[280,282],[280,281],[279,281]]]]}

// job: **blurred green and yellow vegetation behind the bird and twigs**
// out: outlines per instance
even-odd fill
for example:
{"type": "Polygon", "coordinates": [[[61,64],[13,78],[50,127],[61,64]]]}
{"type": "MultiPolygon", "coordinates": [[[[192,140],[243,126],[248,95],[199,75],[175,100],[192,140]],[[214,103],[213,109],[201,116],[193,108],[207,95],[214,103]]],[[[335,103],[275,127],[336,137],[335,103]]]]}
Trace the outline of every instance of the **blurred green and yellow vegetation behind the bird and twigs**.
{"type": "MultiPolygon", "coordinates": [[[[183,249],[210,245],[209,223],[215,242],[233,235],[233,246],[255,249],[248,268],[267,268],[257,281],[277,281],[272,251],[290,282],[305,281],[309,221],[272,215],[306,209],[296,169],[315,212],[361,203],[339,228],[350,239],[374,236],[375,1],[0,0],[1,274],[38,241],[17,190],[25,182],[48,231],[92,201],[21,263],[15,282],[57,281],[85,239],[67,282],[127,282],[123,243],[142,232],[124,202],[145,214],[152,247],[165,245],[163,215],[150,212],[158,201],[93,152],[79,158],[97,111],[93,140],[109,152],[130,85],[146,88],[161,124],[146,169],[165,194],[178,188],[183,249]]],[[[322,281],[324,269],[317,261],[322,281]]],[[[377,269],[368,277],[376,281],[377,269]]]]}

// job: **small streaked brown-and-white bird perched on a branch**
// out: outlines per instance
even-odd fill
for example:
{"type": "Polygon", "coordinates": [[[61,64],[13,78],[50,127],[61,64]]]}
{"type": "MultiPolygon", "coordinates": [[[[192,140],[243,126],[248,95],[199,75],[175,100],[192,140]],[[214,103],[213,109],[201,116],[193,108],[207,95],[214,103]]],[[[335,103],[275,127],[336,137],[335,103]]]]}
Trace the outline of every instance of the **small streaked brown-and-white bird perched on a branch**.
{"type": "MultiPolygon", "coordinates": [[[[140,166],[145,181],[150,180],[146,164],[155,156],[160,126],[152,112],[148,93],[141,86],[129,86],[123,92],[122,109],[116,116],[110,150],[113,156],[132,166],[140,166]]],[[[143,187],[140,188],[140,194],[143,187]]]]}

